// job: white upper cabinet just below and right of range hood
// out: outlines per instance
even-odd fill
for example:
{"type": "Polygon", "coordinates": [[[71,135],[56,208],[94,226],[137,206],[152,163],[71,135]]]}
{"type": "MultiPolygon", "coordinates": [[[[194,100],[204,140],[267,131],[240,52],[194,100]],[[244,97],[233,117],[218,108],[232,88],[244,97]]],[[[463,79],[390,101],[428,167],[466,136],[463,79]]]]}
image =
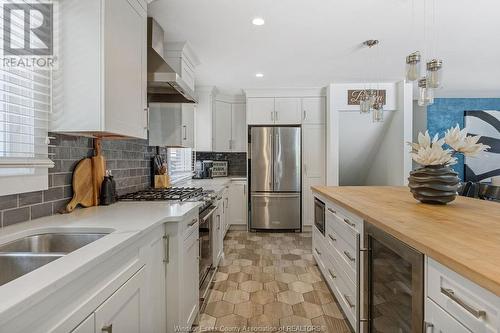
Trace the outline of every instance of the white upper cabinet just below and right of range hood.
{"type": "Polygon", "coordinates": [[[193,148],[194,108],[192,104],[150,104],[149,145],[193,148]]]}

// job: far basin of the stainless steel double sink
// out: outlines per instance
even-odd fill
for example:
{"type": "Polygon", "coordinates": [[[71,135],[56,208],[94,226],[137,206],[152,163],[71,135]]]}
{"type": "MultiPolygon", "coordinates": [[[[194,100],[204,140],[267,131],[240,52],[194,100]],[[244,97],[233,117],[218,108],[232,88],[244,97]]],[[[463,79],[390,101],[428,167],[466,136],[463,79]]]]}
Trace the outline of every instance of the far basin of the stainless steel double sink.
{"type": "Polygon", "coordinates": [[[0,253],[70,253],[106,236],[105,233],[50,233],[27,236],[0,246],[0,253]]]}

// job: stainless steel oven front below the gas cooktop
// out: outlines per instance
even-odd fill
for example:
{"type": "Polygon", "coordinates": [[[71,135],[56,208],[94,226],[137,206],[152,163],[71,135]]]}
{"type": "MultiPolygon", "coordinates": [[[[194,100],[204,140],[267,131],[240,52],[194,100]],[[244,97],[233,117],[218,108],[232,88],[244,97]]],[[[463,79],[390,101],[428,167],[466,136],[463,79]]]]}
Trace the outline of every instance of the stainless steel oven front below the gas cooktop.
{"type": "Polygon", "coordinates": [[[207,297],[210,281],[215,271],[212,257],[212,232],[215,228],[214,213],[217,207],[210,205],[200,212],[200,309],[207,297]]]}

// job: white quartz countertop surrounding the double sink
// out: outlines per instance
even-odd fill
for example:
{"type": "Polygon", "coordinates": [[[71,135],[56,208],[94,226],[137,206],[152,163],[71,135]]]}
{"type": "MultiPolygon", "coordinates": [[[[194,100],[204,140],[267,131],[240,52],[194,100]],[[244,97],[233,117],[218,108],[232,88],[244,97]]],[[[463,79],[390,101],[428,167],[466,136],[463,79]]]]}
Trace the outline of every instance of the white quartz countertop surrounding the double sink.
{"type": "Polygon", "coordinates": [[[0,245],[24,236],[52,232],[110,233],[64,257],[0,286],[0,323],[13,313],[42,300],[87,268],[137,241],[162,223],[182,221],[200,203],[118,202],[77,209],[8,226],[0,230],[0,245]]]}

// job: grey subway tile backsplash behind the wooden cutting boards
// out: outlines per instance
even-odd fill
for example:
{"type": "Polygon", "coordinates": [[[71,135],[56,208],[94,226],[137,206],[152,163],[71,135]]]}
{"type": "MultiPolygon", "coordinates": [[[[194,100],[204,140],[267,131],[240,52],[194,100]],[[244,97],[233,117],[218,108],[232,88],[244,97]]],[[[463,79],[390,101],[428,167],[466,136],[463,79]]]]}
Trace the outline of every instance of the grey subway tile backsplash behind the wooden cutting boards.
{"type": "MultiPolygon", "coordinates": [[[[54,168],[49,169],[49,189],[0,196],[0,225],[7,226],[30,219],[57,214],[73,196],[73,170],[78,162],[94,154],[91,138],[51,133],[55,137],[49,151],[54,168]]],[[[150,186],[150,159],[156,153],[146,140],[103,140],[106,168],[117,183],[118,194],[142,190],[150,186]]],[[[164,148],[161,149],[166,154],[164,148]]]]}

